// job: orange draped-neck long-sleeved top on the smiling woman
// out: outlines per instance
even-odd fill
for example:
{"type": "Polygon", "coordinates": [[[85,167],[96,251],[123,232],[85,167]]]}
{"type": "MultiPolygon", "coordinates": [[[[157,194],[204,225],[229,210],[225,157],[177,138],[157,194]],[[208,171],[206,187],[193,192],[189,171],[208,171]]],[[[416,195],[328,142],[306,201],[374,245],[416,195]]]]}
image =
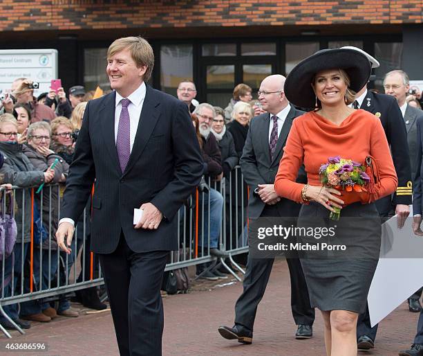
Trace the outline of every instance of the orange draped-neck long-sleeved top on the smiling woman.
{"type": "Polygon", "coordinates": [[[274,188],[278,195],[294,202],[302,202],[304,184],[295,181],[301,164],[306,168],[308,184],[321,186],[319,167],[327,163],[328,157],[338,155],[360,163],[364,163],[368,155],[375,158],[380,187],[378,193],[371,195],[371,201],[397,188],[398,179],[382,123],[361,109],[350,114],[339,126],[315,112],[299,116],[292,123],[283,151],[274,188]]]}

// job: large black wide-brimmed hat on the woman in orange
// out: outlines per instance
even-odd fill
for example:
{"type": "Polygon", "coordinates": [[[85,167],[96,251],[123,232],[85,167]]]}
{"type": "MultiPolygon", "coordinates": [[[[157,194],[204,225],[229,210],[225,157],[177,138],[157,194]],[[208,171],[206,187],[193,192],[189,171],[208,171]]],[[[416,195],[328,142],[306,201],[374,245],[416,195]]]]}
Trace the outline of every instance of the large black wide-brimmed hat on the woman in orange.
{"type": "Polygon", "coordinates": [[[328,69],[344,69],[350,78],[349,89],[359,91],[372,70],[367,57],[348,48],[322,49],[299,62],[285,80],[285,96],[299,107],[314,107],[316,96],[311,83],[314,75],[328,69]]]}

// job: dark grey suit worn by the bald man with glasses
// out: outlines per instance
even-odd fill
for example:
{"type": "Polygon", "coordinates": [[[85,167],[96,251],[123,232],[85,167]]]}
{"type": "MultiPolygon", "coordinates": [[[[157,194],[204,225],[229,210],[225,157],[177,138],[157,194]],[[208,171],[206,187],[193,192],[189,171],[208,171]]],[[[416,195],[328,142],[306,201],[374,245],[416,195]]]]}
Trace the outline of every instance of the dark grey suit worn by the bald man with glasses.
{"type": "MultiPolygon", "coordinates": [[[[290,132],[292,121],[303,112],[291,107],[276,143],[275,157],[270,159],[269,125],[270,114],[261,114],[252,119],[247,140],[240,159],[241,170],[247,184],[250,186],[248,201],[248,216],[250,219],[258,217],[297,217],[300,204],[288,199],[281,199],[275,205],[263,203],[254,190],[259,184],[274,184],[274,177],[279,168],[279,161],[283,154],[283,147],[290,132]]],[[[306,181],[305,171],[301,171],[299,180],[306,181]]],[[[273,265],[272,258],[248,258],[247,272],[243,282],[243,294],[236,301],[235,323],[252,330],[256,310],[261,301],[273,265]]],[[[314,309],[310,306],[308,289],[303,270],[298,258],[287,258],[291,276],[291,308],[297,325],[312,325],[314,309]]]]}

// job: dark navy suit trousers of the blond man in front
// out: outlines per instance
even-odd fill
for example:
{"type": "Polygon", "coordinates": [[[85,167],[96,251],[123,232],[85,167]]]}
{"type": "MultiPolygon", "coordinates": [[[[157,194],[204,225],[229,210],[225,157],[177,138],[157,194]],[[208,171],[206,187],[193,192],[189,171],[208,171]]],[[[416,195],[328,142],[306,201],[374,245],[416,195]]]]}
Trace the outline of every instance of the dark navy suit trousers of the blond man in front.
{"type": "Polygon", "coordinates": [[[120,355],[162,355],[160,287],[169,251],[132,251],[123,233],[112,253],[99,254],[120,355]]]}

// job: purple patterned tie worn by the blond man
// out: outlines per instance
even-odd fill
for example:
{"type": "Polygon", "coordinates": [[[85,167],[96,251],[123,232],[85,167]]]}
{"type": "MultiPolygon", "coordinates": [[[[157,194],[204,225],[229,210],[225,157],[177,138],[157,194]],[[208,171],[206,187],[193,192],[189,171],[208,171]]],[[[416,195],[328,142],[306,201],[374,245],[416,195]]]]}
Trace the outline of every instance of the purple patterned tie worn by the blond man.
{"type": "Polygon", "coordinates": [[[120,170],[123,173],[131,155],[131,125],[128,112],[128,105],[131,103],[131,100],[122,99],[120,103],[122,104],[122,111],[119,116],[116,150],[118,151],[120,170]]]}

